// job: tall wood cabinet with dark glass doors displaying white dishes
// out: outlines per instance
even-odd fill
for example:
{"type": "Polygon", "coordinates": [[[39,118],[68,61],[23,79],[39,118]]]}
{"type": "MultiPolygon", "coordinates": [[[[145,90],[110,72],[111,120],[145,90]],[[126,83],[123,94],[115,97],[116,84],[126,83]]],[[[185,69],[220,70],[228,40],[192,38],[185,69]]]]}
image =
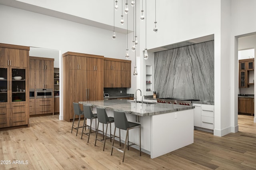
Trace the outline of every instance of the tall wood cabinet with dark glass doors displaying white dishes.
{"type": "Polygon", "coordinates": [[[0,43],[0,130],[29,127],[29,50],[0,43]]]}

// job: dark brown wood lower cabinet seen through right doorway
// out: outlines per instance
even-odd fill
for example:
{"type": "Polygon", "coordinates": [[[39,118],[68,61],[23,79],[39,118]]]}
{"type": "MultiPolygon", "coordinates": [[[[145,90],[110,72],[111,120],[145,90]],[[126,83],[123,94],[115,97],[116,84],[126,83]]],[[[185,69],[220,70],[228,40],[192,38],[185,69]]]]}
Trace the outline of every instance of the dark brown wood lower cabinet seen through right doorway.
{"type": "Polygon", "coordinates": [[[254,99],[238,97],[238,113],[254,114],[254,99]]]}

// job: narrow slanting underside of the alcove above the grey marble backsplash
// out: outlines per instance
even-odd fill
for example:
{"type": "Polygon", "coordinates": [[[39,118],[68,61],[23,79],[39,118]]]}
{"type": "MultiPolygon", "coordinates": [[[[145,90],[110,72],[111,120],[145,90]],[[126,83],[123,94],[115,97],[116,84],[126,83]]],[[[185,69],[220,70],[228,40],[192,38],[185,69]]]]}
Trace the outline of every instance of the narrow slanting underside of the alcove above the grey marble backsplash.
{"type": "Polygon", "coordinates": [[[158,52],[158,51],[164,51],[164,50],[168,50],[168,49],[184,47],[184,46],[192,45],[192,44],[196,44],[196,43],[208,42],[208,41],[211,41],[211,40],[214,40],[214,34],[199,37],[199,38],[195,38],[195,39],[191,39],[191,40],[187,40],[187,41],[184,41],[184,42],[178,42],[178,43],[173,43],[173,44],[170,44],[170,45],[164,45],[162,47],[156,47],[156,48],[148,49],[148,51],[154,53],[154,52],[158,52]]]}

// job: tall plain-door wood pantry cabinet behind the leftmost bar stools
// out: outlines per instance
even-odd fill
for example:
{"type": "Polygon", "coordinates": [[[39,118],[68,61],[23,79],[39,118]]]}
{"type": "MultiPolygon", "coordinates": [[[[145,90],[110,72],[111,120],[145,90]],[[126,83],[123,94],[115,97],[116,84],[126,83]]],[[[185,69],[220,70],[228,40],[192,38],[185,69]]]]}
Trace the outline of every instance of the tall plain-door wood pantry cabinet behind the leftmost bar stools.
{"type": "Polygon", "coordinates": [[[73,102],[103,100],[104,56],[66,52],[62,57],[63,119],[70,122],[73,102]]]}

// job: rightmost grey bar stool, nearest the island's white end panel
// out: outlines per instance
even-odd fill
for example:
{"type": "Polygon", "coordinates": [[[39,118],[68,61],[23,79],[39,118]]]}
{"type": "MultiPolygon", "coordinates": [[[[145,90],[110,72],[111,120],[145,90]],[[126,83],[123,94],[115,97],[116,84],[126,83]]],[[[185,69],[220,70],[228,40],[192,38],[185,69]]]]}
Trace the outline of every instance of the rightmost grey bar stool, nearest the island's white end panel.
{"type": "MultiPolygon", "coordinates": [[[[113,140],[111,155],[113,153],[113,148],[115,148],[116,150],[125,154],[126,142],[128,144],[128,149],[129,149],[129,146],[136,145],[134,143],[129,144],[129,130],[133,129],[133,128],[140,128],[139,131],[140,131],[140,139],[141,139],[141,125],[138,124],[138,123],[128,122],[125,113],[124,112],[118,112],[118,111],[114,111],[114,121],[115,121],[114,138],[116,136],[116,128],[126,130],[126,137],[125,137],[124,147],[121,147],[121,148],[114,147],[114,140],[113,140]],[[122,148],[124,148],[124,150],[121,150],[122,148]]],[[[140,156],[141,156],[141,140],[140,140],[140,146],[139,147],[140,147],[140,156]]],[[[123,162],[124,162],[124,154],[123,154],[123,162]]]]}

